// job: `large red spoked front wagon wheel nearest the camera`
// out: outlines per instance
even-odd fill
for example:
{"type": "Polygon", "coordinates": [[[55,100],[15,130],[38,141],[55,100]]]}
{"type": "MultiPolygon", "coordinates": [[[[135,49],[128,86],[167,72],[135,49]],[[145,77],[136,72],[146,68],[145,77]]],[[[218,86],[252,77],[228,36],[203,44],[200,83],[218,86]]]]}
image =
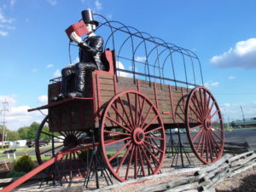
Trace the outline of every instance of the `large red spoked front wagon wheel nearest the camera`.
{"type": "Polygon", "coordinates": [[[166,135],[160,113],[136,90],[126,90],[108,102],[102,114],[102,154],[119,181],[160,171],[166,135]]]}

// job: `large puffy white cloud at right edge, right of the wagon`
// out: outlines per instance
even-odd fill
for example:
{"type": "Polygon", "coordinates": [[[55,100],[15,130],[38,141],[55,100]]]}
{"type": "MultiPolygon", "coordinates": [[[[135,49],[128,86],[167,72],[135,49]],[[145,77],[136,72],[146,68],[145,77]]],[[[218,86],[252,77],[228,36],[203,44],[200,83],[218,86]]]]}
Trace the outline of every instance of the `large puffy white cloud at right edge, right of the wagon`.
{"type": "Polygon", "coordinates": [[[210,62],[219,68],[255,68],[256,38],[249,38],[246,41],[236,43],[235,48],[230,48],[222,55],[212,56],[210,62]]]}

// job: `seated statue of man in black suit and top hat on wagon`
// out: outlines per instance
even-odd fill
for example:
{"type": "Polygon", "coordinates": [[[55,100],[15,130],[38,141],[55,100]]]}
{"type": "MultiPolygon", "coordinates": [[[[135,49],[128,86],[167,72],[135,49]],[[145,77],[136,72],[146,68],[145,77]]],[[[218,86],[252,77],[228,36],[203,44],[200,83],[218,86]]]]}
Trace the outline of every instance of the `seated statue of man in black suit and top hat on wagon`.
{"type": "Polygon", "coordinates": [[[105,69],[101,61],[103,39],[94,33],[99,23],[93,19],[90,9],[82,11],[82,18],[88,30],[88,37],[82,40],[76,32],[71,33],[70,38],[79,45],[79,62],[61,70],[61,94],[52,98],[54,102],[69,96],[83,97],[86,72],[105,69]],[[67,92],[67,84],[73,78],[74,89],[67,92]]]}

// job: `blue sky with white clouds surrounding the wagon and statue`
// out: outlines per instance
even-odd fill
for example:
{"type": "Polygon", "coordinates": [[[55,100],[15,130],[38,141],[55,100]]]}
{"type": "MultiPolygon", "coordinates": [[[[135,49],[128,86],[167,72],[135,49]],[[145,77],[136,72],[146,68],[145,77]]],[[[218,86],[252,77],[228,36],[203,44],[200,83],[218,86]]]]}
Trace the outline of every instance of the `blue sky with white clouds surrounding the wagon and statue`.
{"type": "Polygon", "coordinates": [[[256,117],[254,0],[0,0],[0,102],[9,103],[9,130],[44,119],[27,109],[46,104],[49,79],[70,63],[65,29],[84,9],[194,51],[224,120],[242,119],[241,108],[256,117]]]}

